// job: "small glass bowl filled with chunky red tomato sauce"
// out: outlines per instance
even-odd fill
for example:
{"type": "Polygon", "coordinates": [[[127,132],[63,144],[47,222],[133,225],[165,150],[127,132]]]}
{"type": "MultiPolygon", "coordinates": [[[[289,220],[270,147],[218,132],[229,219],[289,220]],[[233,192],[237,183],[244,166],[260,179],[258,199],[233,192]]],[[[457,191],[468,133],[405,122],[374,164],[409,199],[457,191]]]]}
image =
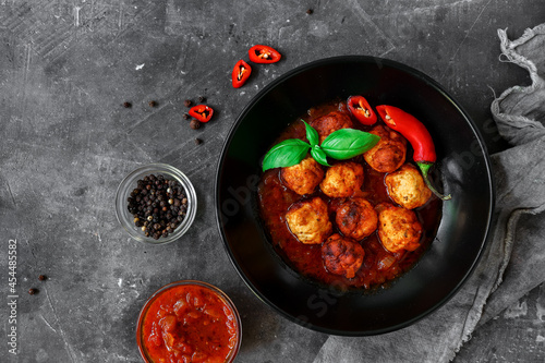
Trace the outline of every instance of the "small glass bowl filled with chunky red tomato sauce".
{"type": "Polygon", "coordinates": [[[136,331],[148,363],[232,362],[242,337],[231,300],[201,281],[172,282],[158,290],[142,308],[136,331]]]}

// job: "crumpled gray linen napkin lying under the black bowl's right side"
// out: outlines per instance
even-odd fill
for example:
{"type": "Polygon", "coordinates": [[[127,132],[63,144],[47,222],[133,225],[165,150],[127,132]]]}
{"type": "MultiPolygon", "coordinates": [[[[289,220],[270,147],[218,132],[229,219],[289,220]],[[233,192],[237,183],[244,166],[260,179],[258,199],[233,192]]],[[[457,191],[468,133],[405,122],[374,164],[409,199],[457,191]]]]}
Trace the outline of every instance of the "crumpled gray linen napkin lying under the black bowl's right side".
{"type": "Polygon", "coordinates": [[[479,266],[431,316],[387,335],[329,337],[314,363],[448,362],[479,324],[545,281],[545,222],[517,228],[525,214],[545,209],[545,24],[514,41],[505,31],[498,34],[502,55],[530,72],[532,85],[511,87],[492,105],[498,130],[512,147],[492,156],[497,199],[479,266]]]}

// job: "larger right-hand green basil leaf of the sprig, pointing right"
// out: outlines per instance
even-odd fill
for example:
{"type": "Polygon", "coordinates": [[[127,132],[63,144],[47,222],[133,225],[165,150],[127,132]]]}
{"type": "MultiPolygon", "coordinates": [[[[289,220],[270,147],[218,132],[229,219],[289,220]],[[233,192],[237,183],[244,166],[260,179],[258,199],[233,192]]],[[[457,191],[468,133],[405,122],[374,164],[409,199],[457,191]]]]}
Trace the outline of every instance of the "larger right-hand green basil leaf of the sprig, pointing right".
{"type": "Polygon", "coordinates": [[[341,129],[327,136],[320,147],[327,156],[338,160],[346,160],[367,152],[379,140],[379,136],[370,134],[368,132],[341,129]]]}

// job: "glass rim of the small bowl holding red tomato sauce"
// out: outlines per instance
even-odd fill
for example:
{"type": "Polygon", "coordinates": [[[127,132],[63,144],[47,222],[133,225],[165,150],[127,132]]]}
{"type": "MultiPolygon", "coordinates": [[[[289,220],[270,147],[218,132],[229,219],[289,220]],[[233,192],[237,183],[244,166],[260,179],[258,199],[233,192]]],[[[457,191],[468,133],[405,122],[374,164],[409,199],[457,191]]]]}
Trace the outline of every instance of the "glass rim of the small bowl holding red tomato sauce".
{"type": "Polygon", "coordinates": [[[225,302],[231,308],[231,311],[233,312],[233,315],[234,315],[234,320],[237,322],[237,327],[238,327],[238,329],[237,329],[237,344],[231,350],[230,355],[228,356],[228,360],[225,363],[233,362],[239,353],[240,346],[242,343],[242,322],[241,322],[239,311],[237,310],[237,306],[234,305],[232,300],[221,289],[219,289],[218,287],[216,287],[211,283],[198,281],[198,280],[179,280],[179,281],[170,282],[170,283],[165,285],[164,287],[159,288],[158,290],[156,290],[146,300],[146,302],[144,303],[144,306],[142,306],[142,310],[140,311],[138,320],[136,324],[136,344],[138,346],[138,351],[140,351],[142,359],[144,360],[144,362],[154,363],[154,361],[152,361],[150,359],[148,359],[146,356],[147,354],[144,350],[144,343],[142,340],[142,329],[144,328],[144,324],[143,324],[144,317],[146,316],[146,313],[147,313],[149,306],[152,306],[152,303],[157,298],[159,298],[164,292],[166,292],[174,287],[179,287],[179,286],[198,286],[198,287],[205,288],[208,291],[215,293],[219,299],[221,299],[222,302],[225,302]]]}

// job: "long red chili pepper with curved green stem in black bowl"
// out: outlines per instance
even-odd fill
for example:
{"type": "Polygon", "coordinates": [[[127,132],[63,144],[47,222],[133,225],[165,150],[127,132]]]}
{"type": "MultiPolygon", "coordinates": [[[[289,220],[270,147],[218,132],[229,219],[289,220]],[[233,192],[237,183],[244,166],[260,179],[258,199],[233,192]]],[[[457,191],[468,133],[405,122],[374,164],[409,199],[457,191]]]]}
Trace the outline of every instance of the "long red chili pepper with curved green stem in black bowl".
{"type": "Polygon", "coordinates": [[[382,105],[377,106],[376,110],[390,129],[398,131],[409,141],[409,143],[411,143],[414,149],[413,159],[422,171],[427,187],[429,187],[438,198],[443,201],[450,199],[452,196],[450,194],[443,195],[437,192],[427,177],[429,168],[437,160],[437,155],[435,154],[434,141],[426,126],[424,126],[414,116],[393,106],[382,105]]]}

